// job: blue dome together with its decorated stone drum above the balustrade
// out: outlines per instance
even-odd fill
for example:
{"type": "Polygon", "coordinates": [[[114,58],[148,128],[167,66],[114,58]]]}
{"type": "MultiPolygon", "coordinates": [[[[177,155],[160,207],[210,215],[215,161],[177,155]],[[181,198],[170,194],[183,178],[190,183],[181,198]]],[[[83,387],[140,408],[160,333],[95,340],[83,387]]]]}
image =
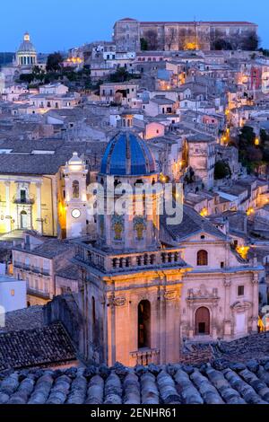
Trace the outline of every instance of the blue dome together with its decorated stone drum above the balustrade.
{"type": "Polygon", "coordinates": [[[143,139],[123,130],[110,140],[98,177],[105,198],[104,215],[98,218],[100,242],[118,251],[158,246],[160,194],[153,189],[158,179],[152,152],[143,139]],[[112,193],[114,212],[109,214],[112,193]],[[125,199],[120,199],[123,196],[125,199]],[[116,208],[118,200],[125,201],[122,213],[116,208]],[[152,212],[148,212],[147,204],[152,204],[152,212]]]}

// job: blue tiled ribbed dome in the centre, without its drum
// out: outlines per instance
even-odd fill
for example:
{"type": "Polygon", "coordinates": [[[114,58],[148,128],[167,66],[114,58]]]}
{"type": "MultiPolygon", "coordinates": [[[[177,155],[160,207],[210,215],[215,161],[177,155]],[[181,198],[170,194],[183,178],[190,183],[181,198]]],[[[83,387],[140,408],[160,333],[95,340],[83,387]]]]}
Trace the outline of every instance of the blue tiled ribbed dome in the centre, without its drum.
{"type": "Polygon", "coordinates": [[[122,131],[110,140],[100,172],[114,176],[143,176],[157,171],[148,145],[134,133],[122,131]]]}

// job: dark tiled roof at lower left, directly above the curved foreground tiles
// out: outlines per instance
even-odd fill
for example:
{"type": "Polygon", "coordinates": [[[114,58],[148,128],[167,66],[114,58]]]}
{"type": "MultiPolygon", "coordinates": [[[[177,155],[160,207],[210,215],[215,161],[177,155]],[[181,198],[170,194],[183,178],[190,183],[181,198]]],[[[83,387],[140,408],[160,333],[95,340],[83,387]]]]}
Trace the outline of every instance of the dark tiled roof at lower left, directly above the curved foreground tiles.
{"type": "Polygon", "coordinates": [[[74,359],[74,346],[60,322],[0,334],[0,371],[54,365],[74,359]]]}

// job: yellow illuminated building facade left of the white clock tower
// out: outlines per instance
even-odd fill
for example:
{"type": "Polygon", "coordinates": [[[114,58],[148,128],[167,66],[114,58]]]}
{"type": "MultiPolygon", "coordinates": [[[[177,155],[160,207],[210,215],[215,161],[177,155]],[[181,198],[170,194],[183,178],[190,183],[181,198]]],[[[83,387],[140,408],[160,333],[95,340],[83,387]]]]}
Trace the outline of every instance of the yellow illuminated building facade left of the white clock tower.
{"type": "Polygon", "coordinates": [[[0,175],[0,234],[35,230],[65,237],[60,172],[55,175],[0,175]]]}

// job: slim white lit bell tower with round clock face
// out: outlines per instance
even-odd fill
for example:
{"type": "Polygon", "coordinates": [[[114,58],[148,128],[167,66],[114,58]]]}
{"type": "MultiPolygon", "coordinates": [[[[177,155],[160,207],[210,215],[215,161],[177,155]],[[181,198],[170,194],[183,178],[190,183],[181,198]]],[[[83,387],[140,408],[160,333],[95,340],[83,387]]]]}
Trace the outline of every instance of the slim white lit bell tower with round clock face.
{"type": "Polygon", "coordinates": [[[87,170],[82,158],[74,153],[65,164],[66,238],[87,233],[87,170]]]}

